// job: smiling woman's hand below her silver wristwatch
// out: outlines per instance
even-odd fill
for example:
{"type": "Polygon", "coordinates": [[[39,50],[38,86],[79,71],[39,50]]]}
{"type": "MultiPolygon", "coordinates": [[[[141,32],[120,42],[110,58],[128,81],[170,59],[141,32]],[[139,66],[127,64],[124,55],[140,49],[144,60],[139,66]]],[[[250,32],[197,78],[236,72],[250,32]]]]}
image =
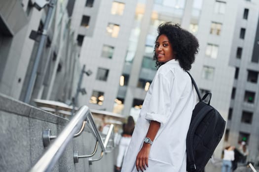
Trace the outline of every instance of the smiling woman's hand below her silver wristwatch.
{"type": "Polygon", "coordinates": [[[143,146],[137,155],[136,168],[137,168],[138,172],[139,172],[139,170],[141,170],[143,172],[148,167],[148,156],[149,156],[149,152],[150,152],[150,147],[151,147],[150,144],[143,143],[143,146]]]}

